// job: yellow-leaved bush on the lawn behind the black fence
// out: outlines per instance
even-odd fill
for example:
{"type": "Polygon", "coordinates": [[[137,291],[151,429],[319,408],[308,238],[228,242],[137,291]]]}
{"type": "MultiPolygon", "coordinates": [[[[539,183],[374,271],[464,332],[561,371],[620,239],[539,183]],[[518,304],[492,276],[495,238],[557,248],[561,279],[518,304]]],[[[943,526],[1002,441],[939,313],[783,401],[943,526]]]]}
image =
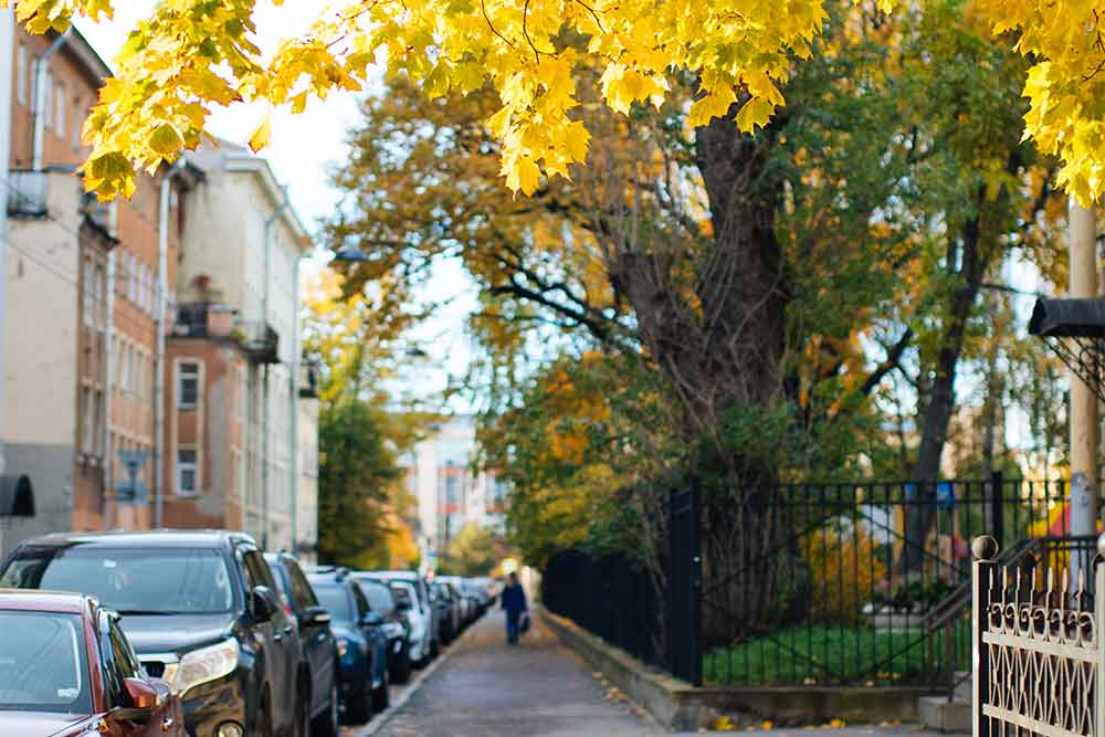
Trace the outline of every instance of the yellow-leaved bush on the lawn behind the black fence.
{"type": "Polygon", "coordinates": [[[871,591],[885,576],[871,534],[860,522],[853,529],[829,529],[808,535],[801,545],[810,570],[810,613],[833,622],[857,622],[862,617],[855,591],[871,591]]]}

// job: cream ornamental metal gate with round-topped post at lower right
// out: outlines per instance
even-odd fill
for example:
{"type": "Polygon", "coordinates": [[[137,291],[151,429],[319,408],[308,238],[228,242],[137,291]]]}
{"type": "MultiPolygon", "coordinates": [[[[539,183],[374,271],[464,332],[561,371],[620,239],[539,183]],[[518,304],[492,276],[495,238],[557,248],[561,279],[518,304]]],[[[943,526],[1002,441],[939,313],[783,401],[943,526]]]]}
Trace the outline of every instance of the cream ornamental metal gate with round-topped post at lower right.
{"type": "Polygon", "coordinates": [[[1057,568],[1006,567],[975,541],[975,737],[1101,737],[1105,647],[1095,591],[1105,567],[1070,581],[1057,568]]]}

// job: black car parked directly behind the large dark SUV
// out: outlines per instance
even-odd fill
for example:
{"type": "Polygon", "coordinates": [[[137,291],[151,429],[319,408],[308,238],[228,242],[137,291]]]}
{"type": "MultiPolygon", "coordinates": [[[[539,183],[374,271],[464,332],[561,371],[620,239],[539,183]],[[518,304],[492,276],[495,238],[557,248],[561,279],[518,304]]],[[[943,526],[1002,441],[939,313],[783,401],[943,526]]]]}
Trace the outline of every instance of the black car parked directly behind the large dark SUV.
{"type": "Polygon", "coordinates": [[[318,603],[299,564],[286,552],[266,552],[265,561],[281,596],[298,624],[303,650],[303,681],[308,685],[301,698],[311,703],[313,737],[335,737],[338,731],[338,643],[330,630],[330,613],[318,603]]]}

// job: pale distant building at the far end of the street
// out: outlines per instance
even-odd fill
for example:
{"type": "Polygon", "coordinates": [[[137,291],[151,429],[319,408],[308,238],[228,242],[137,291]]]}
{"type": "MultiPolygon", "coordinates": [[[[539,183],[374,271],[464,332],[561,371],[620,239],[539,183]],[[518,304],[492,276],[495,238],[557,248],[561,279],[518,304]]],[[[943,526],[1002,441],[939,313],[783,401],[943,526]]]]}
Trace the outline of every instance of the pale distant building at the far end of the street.
{"type": "Polygon", "coordinates": [[[502,529],[506,485],[493,472],[473,473],[476,420],[455,415],[403,459],[407,484],[418,499],[420,543],[440,552],[464,525],[502,529]]]}

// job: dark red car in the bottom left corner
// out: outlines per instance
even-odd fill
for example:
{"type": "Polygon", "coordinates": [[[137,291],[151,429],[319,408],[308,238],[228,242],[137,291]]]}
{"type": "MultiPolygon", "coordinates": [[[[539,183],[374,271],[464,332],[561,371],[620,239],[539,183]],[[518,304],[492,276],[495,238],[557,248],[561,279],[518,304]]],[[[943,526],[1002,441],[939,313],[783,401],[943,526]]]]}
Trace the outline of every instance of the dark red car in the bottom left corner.
{"type": "Polygon", "coordinates": [[[118,620],[78,593],[0,589],[0,735],[186,737],[118,620]]]}

